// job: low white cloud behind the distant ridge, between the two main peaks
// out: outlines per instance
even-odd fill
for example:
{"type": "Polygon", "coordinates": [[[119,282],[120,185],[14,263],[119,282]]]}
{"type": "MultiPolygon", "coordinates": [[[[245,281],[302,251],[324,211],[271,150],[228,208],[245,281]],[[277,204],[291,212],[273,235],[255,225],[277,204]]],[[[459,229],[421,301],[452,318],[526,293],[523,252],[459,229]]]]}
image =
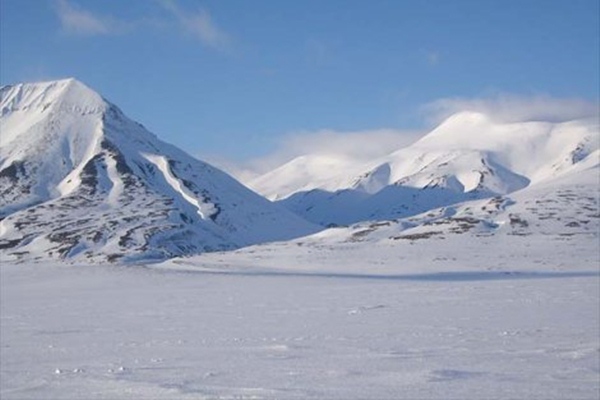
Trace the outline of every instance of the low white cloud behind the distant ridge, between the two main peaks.
{"type": "Polygon", "coordinates": [[[413,143],[421,135],[422,132],[394,129],[304,131],[285,135],[279,140],[276,150],[265,157],[243,163],[210,156],[204,159],[242,182],[248,182],[301,155],[339,156],[353,159],[356,163],[368,162],[413,143]]]}

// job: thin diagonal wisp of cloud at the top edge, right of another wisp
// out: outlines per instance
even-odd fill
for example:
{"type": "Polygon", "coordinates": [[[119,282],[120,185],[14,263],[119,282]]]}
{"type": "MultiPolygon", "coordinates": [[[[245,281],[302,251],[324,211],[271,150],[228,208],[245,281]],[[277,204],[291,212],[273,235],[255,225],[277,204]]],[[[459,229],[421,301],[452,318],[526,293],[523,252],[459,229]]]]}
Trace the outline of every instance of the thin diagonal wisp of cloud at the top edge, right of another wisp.
{"type": "Polygon", "coordinates": [[[160,4],[177,19],[185,32],[199,39],[204,45],[219,50],[229,46],[229,35],[215,24],[207,10],[183,10],[175,0],[161,0],[160,4]]]}

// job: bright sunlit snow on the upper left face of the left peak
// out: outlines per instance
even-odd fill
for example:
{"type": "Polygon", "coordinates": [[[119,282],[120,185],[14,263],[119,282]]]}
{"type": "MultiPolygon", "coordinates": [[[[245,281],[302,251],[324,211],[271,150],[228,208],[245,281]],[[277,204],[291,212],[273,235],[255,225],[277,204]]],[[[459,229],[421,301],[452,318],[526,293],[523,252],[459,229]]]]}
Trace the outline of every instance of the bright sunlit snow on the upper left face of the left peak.
{"type": "Polygon", "coordinates": [[[12,206],[23,208],[74,191],[78,174],[99,146],[100,116],[107,106],[103,99],[69,79],[5,86],[0,100],[0,170],[35,158],[35,169],[43,174],[12,206]]]}

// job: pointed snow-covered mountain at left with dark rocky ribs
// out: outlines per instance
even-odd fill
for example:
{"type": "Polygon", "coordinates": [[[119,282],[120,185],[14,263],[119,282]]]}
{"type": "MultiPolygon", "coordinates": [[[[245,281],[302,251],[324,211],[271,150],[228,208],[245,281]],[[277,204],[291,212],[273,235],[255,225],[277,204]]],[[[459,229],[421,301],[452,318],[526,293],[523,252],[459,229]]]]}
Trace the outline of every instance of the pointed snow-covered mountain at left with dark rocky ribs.
{"type": "Polygon", "coordinates": [[[74,79],[0,100],[3,259],[164,259],[317,230],[74,79]]]}

